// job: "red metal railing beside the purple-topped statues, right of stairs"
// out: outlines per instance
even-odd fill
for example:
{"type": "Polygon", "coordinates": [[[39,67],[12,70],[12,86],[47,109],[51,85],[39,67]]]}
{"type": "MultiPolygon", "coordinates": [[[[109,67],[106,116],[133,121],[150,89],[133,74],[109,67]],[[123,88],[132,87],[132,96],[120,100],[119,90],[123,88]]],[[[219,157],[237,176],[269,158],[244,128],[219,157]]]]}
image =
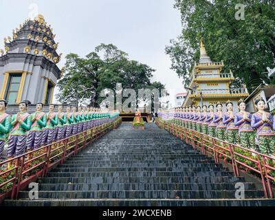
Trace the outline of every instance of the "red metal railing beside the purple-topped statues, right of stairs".
{"type": "Polygon", "coordinates": [[[204,155],[212,155],[216,163],[223,159],[232,165],[233,173],[240,176],[239,170],[252,173],[261,179],[266,198],[273,198],[272,187],[275,184],[275,159],[269,155],[244,148],[239,144],[231,144],[197,131],[187,129],[183,126],[173,124],[157,118],[156,124],[166,129],[173,135],[185,140],[193,148],[199,148],[204,155]]]}

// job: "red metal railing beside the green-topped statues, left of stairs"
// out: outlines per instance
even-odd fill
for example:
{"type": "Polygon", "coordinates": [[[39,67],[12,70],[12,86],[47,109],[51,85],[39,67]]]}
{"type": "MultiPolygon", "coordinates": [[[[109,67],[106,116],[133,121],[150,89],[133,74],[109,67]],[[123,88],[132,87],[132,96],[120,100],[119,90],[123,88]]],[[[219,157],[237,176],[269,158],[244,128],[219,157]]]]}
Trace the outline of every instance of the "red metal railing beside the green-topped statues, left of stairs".
{"type": "Polygon", "coordinates": [[[45,177],[52,167],[63,164],[68,157],[76,155],[87,144],[117,128],[120,123],[121,118],[117,118],[113,122],[0,162],[0,203],[5,197],[17,199],[19,190],[38,177],[45,177]]]}

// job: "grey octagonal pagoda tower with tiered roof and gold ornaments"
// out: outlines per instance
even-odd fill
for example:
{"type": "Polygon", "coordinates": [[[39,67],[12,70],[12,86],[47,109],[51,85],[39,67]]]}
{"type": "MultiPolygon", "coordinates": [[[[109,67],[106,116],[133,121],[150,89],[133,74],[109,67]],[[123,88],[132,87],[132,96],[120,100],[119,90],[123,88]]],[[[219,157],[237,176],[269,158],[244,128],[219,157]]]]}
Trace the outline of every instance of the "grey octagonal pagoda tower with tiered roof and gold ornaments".
{"type": "Polygon", "coordinates": [[[56,52],[55,34],[43,15],[26,20],[12,31],[12,37],[4,38],[4,50],[0,50],[0,98],[9,104],[21,100],[32,103],[52,102],[54,87],[61,78],[56,65],[61,55],[56,52]]]}

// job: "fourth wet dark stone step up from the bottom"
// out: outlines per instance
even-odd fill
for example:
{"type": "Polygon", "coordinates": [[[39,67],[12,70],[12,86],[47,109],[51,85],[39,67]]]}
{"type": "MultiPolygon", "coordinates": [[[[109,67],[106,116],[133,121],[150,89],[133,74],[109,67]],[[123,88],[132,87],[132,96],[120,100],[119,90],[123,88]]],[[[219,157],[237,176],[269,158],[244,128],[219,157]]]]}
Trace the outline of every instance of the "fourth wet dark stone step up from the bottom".
{"type": "Polygon", "coordinates": [[[102,183],[236,183],[243,177],[44,177],[43,184],[102,184],[102,183]]]}

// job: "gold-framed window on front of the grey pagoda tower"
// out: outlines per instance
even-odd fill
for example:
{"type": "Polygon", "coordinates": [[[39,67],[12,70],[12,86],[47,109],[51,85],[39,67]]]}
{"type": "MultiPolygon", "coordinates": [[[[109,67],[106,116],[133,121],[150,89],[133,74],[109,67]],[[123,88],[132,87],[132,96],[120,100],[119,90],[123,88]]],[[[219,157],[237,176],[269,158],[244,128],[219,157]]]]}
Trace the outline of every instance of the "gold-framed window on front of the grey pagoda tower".
{"type": "Polygon", "coordinates": [[[21,78],[22,74],[10,74],[9,76],[7,89],[5,91],[5,100],[7,100],[9,104],[17,103],[21,78]]]}

